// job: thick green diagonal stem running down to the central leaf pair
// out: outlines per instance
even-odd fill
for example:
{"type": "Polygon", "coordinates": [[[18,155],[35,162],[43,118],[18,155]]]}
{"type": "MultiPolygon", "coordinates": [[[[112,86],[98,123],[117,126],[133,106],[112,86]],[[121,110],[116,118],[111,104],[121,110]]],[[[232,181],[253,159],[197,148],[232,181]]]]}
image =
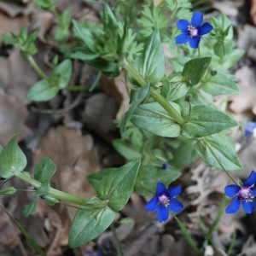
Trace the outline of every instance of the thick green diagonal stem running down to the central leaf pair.
{"type": "MultiPolygon", "coordinates": [[[[137,80],[137,82],[141,85],[144,86],[147,84],[147,81],[143,78],[143,76],[137,72],[133,67],[131,67],[127,62],[123,64],[123,67],[125,70],[127,70],[131,75],[137,80]]],[[[158,93],[154,88],[151,86],[150,87],[150,95],[154,97],[154,100],[156,102],[159,102],[160,105],[166,109],[166,112],[170,114],[170,116],[176,120],[177,124],[183,125],[184,124],[184,119],[177,112],[175,108],[172,107],[172,105],[166,100],[165,97],[161,96],[160,93],[158,93]]]]}

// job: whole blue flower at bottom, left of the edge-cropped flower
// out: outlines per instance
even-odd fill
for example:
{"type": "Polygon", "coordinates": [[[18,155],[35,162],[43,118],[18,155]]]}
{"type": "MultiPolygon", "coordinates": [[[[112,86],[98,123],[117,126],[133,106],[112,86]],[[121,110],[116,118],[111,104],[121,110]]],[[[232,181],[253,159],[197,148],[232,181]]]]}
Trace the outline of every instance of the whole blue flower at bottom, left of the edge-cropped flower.
{"type": "Polygon", "coordinates": [[[150,212],[157,210],[157,217],[160,223],[162,223],[169,218],[168,210],[171,210],[172,212],[179,212],[183,209],[183,204],[175,199],[180,192],[181,185],[166,189],[165,184],[157,183],[155,195],[150,201],[148,201],[145,208],[150,212]]]}

